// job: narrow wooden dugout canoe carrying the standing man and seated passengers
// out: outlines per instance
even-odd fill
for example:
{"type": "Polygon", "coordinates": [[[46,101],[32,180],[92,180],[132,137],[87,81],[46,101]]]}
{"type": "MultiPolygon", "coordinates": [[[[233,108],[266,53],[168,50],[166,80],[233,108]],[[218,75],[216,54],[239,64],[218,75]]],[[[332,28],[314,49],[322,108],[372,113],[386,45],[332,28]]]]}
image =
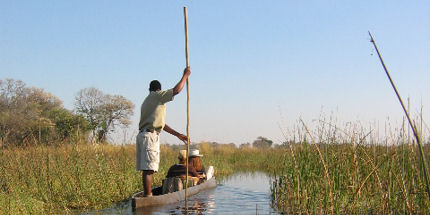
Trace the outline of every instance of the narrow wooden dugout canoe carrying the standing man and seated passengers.
{"type": "MultiPolygon", "coordinates": [[[[215,177],[187,189],[188,196],[193,196],[199,193],[202,190],[207,190],[210,188],[216,187],[215,177]]],[[[132,206],[133,209],[148,207],[148,206],[157,206],[157,205],[166,205],[175,202],[179,202],[185,200],[185,189],[167,193],[164,195],[157,195],[161,193],[161,187],[156,187],[152,189],[153,196],[143,197],[143,191],[135,193],[132,198],[132,206]]]]}

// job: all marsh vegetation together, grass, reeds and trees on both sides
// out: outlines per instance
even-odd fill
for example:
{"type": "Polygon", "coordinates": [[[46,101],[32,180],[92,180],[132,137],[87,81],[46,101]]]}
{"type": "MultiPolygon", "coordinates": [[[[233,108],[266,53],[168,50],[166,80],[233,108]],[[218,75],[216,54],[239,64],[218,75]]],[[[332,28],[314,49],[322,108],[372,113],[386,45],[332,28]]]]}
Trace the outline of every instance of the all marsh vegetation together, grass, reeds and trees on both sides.
{"type": "MultiPolygon", "coordinates": [[[[99,114],[73,113],[42,89],[27,88],[19,81],[0,81],[0,214],[101,209],[142,190],[134,144],[91,141],[104,140],[106,129],[115,123],[128,123],[130,111],[104,117],[122,110],[113,104],[127,101],[103,96],[95,89],[84,89],[78,95],[78,107],[97,107],[99,114]],[[97,98],[105,99],[88,106],[97,98]]],[[[130,110],[133,105],[127,104],[125,110],[130,110]]],[[[192,148],[204,154],[205,166],[215,167],[217,178],[238,171],[270,175],[273,207],[281,212],[430,212],[423,159],[406,123],[399,129],[388,123],[380,134],[377,126],[339,126],[335,120],[329,121],[320,119],[312,129],[301,121],[285,131],[281,144],[258,137],[239,147],[202,142],[192,148]]],[[[421,120],[417,131],[424,140],[428,161],[425,134],[430,130],[421,120]]],[[[154,186],[161,184],[168,168],[177,162],[179,147],[184,146],[162,145],[154,186]]]]}

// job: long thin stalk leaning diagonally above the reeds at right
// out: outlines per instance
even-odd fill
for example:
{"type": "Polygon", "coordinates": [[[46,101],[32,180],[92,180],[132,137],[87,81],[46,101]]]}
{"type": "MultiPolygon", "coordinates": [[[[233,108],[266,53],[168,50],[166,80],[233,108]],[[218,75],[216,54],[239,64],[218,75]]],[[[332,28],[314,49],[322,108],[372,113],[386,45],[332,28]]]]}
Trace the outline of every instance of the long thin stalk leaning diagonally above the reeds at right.
{"type": "Polygon", "coordinates": [[[378,57],[379,57],[379,60],[381,61],[382,67],[384,67],[385,73],[387,74],[388,79],[390,80],[390,83],[391,83],[391,86],[392,86],[392,87],[393,87],[393,89],[394,89],[394,92],[396,92],[397,98],[399,99],[399,102],[400,102],[400,104],[402,105],[403,111],[405,112],[406,118],[408,119],[409,125],[410,125],[410,126],[411,126],[411,128],[412,128],[412,132],[414,133],[414,136],[415,136],[415,139],[416,139],[416,141],[417,141],[418,148],[419,148],[419,151],[420,151],[420,155],[421,155],[421,163],[422,163],[422,165],[423,165],[423,169],[424,169],[424,178],[425,178],[424,180],[425,180],[425,182],[426,182],[426,191],[427,191],[427,195],[428,195],[428,196],[429,196],[429,198],[430,198],[430,179],[429,179],[429,173],[428,173],[428,168],[427,168],[427,161],[426,161],[426,158],[425,158],[425,155],[424,155],[423,146],[422,146],[422,140],[421,140],[421,138],[420,138],[420,135],[418,135],[417,127],[415,126],[415,124],[414,124],[414,123],[412,123],[412,120],[411,120],[411,118],[409,117],[409,113],[408,113],[408,111],[406,110],[405,105],[403,104],[403,100],[402,100],[402,98],[400,97],[399,92],[397,91],[397,88],[396,88],[396,85],[395,85],[395,84],[394,84],[394,82],[393,82],[393,79],[391,79],[391,75],[390,75],[390,73],[388,72],[387,67],[385,66],[384,60],[382,60],[382,56],[381,56],[381,54],[379,53],[379,49],[378,49],[378,47],[376,46],[376,42],[375,42],[375,40],[373,39],[373,36],[372,36],[372,34],[370,33],[370,31],[369,31],[369,36],[370,36],[370,42],[371,42],[371,43],[373,43],[373,46],[374,46],[374,47],[375,47],[375,49],[376,49],[376,53],[378,53],[378,57]]]}

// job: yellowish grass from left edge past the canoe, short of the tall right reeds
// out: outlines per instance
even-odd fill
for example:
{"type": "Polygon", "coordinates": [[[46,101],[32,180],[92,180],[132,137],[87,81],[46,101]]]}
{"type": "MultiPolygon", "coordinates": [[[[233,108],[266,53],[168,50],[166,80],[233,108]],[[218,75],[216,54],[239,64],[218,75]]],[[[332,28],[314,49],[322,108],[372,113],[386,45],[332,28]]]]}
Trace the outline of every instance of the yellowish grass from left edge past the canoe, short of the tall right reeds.
{"type": "MultiPolygon", "coordinates": [[[[263,171],[283,152],[237,149],[202,143],[205,166],[217,177],[237,171],[263,171]],[[276,156],[275,156],[276,155],[276,156]]],[[[109,207],[142,190],[135,169],[135,145],[66,144],[0,150],[0,214],[73,214],[109,207]]],[[[162,145],[160,185],[177,162],[177,150],[162,145]]],[[[279,162],[279,165],[282,163],[279,162]]],[[[280,166],[279,166],[280,168],[280,166]]]]}

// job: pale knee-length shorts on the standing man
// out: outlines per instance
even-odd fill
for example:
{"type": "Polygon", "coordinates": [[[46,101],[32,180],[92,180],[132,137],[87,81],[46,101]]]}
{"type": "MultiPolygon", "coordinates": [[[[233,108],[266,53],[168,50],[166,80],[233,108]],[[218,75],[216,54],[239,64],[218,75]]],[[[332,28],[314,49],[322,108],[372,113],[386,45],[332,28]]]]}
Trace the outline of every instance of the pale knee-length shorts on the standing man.
{"type": "Polygon", "coordinates": [[[160,164],[160,136],[157,132],[142,131],[136,137],[136,169],[158,171],[160,164]]]}

